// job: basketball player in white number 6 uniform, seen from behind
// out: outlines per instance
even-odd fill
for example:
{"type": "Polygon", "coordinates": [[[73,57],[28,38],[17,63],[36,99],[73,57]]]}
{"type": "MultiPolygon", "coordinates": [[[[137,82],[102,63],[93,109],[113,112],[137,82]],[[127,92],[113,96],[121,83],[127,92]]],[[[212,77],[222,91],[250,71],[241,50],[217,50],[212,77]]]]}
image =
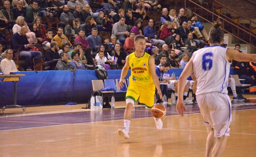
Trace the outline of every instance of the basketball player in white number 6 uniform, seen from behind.
{"type": "Polygon", "coordinates": [[[229,125],[231,123],[231,101],[228,97],[228,75],[232,60],[239,62],[256,62],[256,54],[239,53],[235,49],[220,46],[224,38],[218,19],[209,32],[210,46],[194,52],[178,82],[177,112],[182,116],[186,111],[182,94],[185,81],[192,72],[197,79],[196,99],[211,131],[206,141],[206,157],[219,157],[224,153],[229,125]]]}

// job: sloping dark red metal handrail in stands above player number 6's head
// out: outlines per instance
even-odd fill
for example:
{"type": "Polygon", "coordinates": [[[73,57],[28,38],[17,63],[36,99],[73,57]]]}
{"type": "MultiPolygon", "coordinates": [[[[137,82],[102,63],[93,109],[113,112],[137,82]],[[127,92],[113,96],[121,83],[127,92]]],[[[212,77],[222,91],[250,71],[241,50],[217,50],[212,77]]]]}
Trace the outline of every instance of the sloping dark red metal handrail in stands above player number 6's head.
{"type": "MultiPolygon", "coordinates": [[[[191,2],[191,3],[193,3],[193,4],[195,4],[196,6],[200,7],[201,9],[204,9],[205,11],[208,11],[208,12],[212,13],[212,15],[215,15],[215,16],[221,18],[222,20],[224,20],[224,21],[226,21],[227,23],[229,23],[229,24],[231,24],[231,25],[237,27],[238,29],[244,31],[245,33],[249,34],[249,35],[250,35],[250,40],[249,40],[249,41],[251,41],[251,36],[254,36],[254,38],[256,38],[256,36],[255,36],[254,34],[251,34],[250,32],[248,32],[248,31],[246,31],[246,30],[244,30],[244,29],[241,29],[241,28],[238,27],[237,25],[235,25],[235,24],[233,24],[232,22],[229,22],[228,20],[226,20],[226,19],[220,17],[219,15],[213,13],[212,11],[210,11],[210,10],[208,10],[208,9],[205,9],[204,7],[202,7],[201,5],[197,4],[196,2],[193,2],[192,0],[188,0],[188,1],[191,2]]],[[[214,1],[215,1],[215,0],[214,0],[214,1]]],[[[186,8],[186,0],[185,0],[185,9],[187,9],[187,8],[186,8]]],[[[194,13],[194,12],[193,12],[193,13],[194,13]]],[[[196,14],[196,13],[194,13],[194,14],[197,15],[197,16],[199,16],[199,15],[196,14]]],[[[203,18],[202,16],[199,16],[199,17],[203,18]]],[[[210,21],[207,20],[206,18],[203,18],[203,19],[206,20],[206,21],[208,21],[208,22],[210,22],[210,21]]],[[[210,23],[212,23],[212,22],[210,22],[210,23]]],[[[224,29],[224,31],[228,32],[229,34],[231,34],[231,35],[234,36],[235,38],[238,38],[239,40],[242,40],[244,43],[247,43],[248,45],[250,45],[250,46],[252,46],[252,47],[254,47],[254,48],[256,49],[256,46],[254,46],[254,45],[252,45],[251,43],[249,43],[249,42],[243,40],[242,38],[236,36],[235,34],[232,34],[231,32],[229,32],[229,31],[227,31],[227,30],[225,30],[225,29],[224,29]]]]}

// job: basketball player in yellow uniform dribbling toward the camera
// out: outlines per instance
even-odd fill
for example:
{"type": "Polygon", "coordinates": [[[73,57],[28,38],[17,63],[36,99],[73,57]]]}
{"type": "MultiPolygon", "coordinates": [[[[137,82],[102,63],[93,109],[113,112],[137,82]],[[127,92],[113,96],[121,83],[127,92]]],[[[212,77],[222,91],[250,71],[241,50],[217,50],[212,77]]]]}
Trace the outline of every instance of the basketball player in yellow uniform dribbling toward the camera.
{"type": "MultiPolygon", "coordinates": [[[[157,74],[155,72],[155,59],[144,52],[146,40],[143,35],[138,35],[134,39],[135,52],[125,58],[125,66],[122,69],[119,85],[122,87],[124,78],[131,67],[131,76],[129,77],[129,86],[126,92],[126,107],[124,114],[124,129],[118,129],[118,135],[129,139],[129,126],[131,122],[131,110],[134,103],[140,97],[140,102],[144,103],[148,110],[154,105],[155,87],[160,98],[163,99],[157,74]]],[[[155,119],[157,129],[161,130],[163,122],[161,119],[155,119]]]]}

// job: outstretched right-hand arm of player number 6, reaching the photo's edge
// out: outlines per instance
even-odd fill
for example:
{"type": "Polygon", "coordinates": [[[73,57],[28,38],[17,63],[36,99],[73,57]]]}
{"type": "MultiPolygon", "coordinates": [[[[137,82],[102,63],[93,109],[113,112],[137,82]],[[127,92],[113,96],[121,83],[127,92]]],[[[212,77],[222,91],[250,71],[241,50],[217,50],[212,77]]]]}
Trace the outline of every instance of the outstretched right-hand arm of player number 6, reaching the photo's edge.
{"type": "Polygon", "coordinates": [[[228,61],[232,59],[238,62],[254,62],[256,63],[256,54],[244,54],[235,49],[227,49],[226,58],[228,61]]]}

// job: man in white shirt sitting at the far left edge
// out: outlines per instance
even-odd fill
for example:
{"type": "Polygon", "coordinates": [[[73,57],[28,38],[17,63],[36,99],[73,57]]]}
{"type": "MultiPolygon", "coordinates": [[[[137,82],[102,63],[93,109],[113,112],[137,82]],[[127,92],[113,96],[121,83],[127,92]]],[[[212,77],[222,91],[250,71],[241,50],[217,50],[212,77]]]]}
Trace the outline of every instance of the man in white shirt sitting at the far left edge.
{"type": "Polygon", "coordinates": [[[4,74],[10,74],[10,72],[18,72],[18,69],[12,60],[13,51],[12,49],[6,50],[6,58],[1,61],[0,67],[4,74]]]}

